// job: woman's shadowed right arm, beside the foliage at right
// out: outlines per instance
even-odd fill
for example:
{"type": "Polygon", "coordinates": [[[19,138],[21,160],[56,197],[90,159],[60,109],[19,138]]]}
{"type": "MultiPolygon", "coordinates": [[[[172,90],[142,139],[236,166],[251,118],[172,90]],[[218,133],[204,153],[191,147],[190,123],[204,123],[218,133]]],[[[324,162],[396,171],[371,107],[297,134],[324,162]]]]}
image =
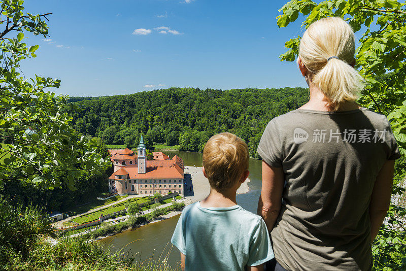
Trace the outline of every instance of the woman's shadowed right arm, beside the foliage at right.
{"type": "Polygon", "coordinates": [[[371,221],[371,241],[374,241],[379,228],[389,210],[390,197],[392,194],[393,171],[395,160],[384,163],[378,173],[374,184],[371,200],[369,202],[369,218],[371,221]]]}

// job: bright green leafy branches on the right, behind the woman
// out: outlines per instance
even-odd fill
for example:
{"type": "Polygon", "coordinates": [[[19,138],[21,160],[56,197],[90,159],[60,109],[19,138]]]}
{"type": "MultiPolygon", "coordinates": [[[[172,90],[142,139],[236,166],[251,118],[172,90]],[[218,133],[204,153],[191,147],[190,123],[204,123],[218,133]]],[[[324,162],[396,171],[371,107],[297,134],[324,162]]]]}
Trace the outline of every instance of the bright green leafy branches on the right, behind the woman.
{"type": "MultiPolygon", "coordinates": [[[[337,0],[314,2],[293,0],[280,11],[277,23],[286,27],[299,14],[308,27],[324,17],[342,17],[360,37],[356,49],[356,68],[367,83],[359,103],[385,114],[391,122],[400,152],[406,154],[406,2],[395,0],[337,0]]],[[[298,54],[300,37],[285,43],[289,50],[280,57],[293,61],[298,54]]],[[[397,183],[404,180],[404,159],[396,161],[393,195],[404,193],[397,183]]],[[[406,269],[405,209],[391,205],[387,222],[373,244],[374,268],[406,269]]]]}

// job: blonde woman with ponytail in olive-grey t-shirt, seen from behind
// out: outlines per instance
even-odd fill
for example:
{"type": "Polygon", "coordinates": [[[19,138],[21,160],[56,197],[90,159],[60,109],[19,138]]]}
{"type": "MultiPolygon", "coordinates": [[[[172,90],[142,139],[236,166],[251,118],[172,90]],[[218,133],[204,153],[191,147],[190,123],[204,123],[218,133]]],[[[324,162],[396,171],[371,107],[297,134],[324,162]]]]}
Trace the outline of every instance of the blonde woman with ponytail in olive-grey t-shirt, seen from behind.
{"type": "Polygon", "coordinates": [[[258,213],[272,229],[275,270],[372,267],[400,154],[386,117],[356,103],[354,52],[343,19],[311,24],[297,59],[310,100],[271,120],[259,143],[258,213]]]}

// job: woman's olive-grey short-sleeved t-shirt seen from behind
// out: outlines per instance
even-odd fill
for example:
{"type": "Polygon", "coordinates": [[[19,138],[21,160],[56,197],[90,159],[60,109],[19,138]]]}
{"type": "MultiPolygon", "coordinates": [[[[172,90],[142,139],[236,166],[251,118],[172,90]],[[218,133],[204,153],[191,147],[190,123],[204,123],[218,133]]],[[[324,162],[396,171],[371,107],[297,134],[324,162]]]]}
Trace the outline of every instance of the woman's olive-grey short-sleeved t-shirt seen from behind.
{"type": "Polygon", "coordinates": [[[370,196],[382,165],[400,157],[386,117],[297,109],[268,123],[258,153],[285,173],[271,232],[277,261],[288,270],[369,270],[370,196]]]}

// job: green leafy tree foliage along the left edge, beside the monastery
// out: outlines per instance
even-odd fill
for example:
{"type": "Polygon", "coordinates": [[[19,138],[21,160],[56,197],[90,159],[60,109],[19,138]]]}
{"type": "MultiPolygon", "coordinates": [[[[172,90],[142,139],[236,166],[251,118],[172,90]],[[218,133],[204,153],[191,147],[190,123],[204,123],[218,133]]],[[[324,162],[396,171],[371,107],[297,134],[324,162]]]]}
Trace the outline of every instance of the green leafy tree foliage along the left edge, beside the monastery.
{"type": "MultiPolygon", "coordinates": [[[[47,37],[48,14],[24,13],[24,1],[4,0],[0,25],[0,183],[8,180],[31,181],[36,186],[53,189],[62,182],[74,189],[78,169],[100,174],[105,161],[95,149],[96,140],[88,140],[70,125],[66,97],[46,92],[59,87],[60,80],[36,76],[24,79],[20,62],[36,57],[38,45],[23,42],[24,32],[47,37]],[[15,38],[6,38],[16,33],[15,38]]],[[[70,105],[74,110],[75,105],[70,105]]]]}

